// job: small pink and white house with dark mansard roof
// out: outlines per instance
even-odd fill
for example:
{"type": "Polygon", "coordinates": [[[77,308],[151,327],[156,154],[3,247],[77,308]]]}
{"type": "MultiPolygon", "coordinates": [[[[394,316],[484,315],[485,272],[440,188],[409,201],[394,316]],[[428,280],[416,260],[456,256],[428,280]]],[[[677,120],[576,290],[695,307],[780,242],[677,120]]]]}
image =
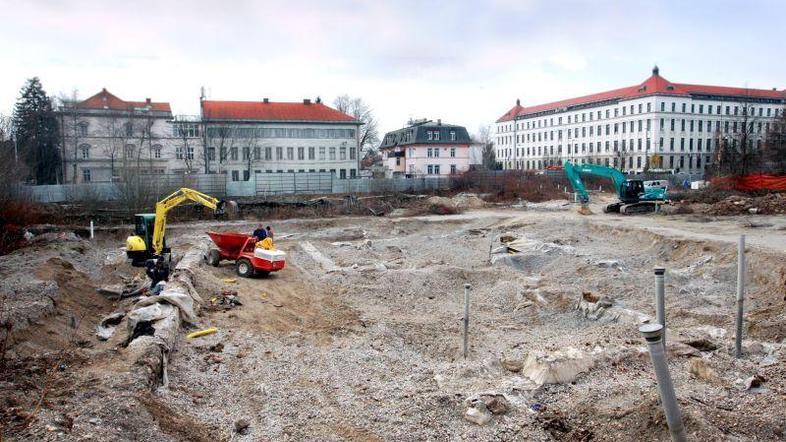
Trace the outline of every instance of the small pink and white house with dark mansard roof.
{"type": "Polygon", "coordinates": [[[421,120],[386,133],[379,150],[388,177],[440,176],[469,170],[470,144],[463,126],[421,120]]]}

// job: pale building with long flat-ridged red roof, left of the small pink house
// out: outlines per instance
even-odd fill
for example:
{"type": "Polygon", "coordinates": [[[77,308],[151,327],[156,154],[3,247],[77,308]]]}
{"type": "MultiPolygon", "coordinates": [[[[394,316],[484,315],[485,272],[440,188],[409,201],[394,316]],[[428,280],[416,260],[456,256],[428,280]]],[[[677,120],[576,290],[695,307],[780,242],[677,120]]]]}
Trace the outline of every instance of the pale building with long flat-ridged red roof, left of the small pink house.
{"type": "Polygon", "coordinates": [[[202,100],[203,157],[210,172],[248,181],[252,173],[331,172],[358,176],[362,124],[322,104],[202,100]]]}

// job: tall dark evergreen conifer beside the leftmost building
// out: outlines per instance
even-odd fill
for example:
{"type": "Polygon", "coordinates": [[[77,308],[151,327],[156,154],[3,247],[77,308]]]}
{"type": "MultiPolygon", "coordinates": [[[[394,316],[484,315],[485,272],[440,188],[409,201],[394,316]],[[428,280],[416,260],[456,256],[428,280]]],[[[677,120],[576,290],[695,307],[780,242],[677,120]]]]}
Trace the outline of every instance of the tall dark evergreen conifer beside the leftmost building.
{"type": "Polygon", "coordinates": [[[38,77],[27,80],[14,108],[20,157],[37,184],[55,184],[61,173],[57,117],[38,77]]]}

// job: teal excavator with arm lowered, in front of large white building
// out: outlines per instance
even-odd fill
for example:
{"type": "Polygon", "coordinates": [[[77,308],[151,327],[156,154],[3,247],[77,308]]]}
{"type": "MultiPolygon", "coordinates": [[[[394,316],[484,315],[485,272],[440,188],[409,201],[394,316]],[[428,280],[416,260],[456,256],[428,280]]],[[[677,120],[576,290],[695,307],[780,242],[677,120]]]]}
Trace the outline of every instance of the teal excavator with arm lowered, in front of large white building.
{"type": "Polygon", "coordinates": [[[625,175],[609,166],[599,164],[573,164],[565,162],[565,175],[576,192],[581,203],[580,213],[589,212],[589,194],[581,181],[581,175],[592,175],[610,178],[614,183],[614,190],[617,191],[619,201],[603,208],[604,213],[647,213],[654,212],[658,204],[666,202],[666,189],[651,187],[645,188],[644,181],[637,179],[626,179],[625,175]]]}

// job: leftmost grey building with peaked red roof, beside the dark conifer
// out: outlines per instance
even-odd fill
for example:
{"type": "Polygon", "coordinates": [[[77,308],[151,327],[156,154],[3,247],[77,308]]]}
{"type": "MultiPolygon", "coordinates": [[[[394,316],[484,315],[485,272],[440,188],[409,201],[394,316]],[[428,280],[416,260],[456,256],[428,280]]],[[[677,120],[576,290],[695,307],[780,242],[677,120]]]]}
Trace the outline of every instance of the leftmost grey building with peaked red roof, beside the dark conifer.
{"type": "Polygon", "coordinates": [[[111,181],[178,168],[169,103],[125,101],[106,89],[58,109],[63,181],[111,181]]]}

